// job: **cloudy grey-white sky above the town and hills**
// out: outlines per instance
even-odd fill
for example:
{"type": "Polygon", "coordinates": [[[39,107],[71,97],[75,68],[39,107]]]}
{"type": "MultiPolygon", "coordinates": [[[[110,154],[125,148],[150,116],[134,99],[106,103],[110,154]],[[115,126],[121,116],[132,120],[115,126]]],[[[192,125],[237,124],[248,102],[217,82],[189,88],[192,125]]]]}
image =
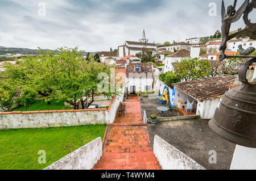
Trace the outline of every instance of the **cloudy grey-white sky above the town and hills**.
{"type": "MultiPolygon", "coordinates": [[[[220,0],[0,0],[0,46],[94,52],[138,41],[143,28],[150,42],[183,41],[220,30],[220,8],[220,0]],[[39,2],[46,5],[45,16],[38,13],[43,12],[39,2]],[[210,2],[216,3],[217,16],[209,15],[210,2]]],[[[250,14],[255,22],[254,17],[255,11],[250,14]]],[[[240,27],[242,19],[231,30],[240,27]]]]}

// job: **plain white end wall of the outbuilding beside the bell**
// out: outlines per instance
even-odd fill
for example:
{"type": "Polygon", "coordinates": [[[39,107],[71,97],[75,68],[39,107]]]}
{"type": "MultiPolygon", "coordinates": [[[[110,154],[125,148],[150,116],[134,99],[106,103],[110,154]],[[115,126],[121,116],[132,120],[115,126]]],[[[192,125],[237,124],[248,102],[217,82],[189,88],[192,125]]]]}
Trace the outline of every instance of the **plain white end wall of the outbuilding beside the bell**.
{"type": "Polygon", "coordinates": [[[200,115],[201,119],[212,119],[220,99],[203,100],[197,103],[196,115],[200,115]]]}

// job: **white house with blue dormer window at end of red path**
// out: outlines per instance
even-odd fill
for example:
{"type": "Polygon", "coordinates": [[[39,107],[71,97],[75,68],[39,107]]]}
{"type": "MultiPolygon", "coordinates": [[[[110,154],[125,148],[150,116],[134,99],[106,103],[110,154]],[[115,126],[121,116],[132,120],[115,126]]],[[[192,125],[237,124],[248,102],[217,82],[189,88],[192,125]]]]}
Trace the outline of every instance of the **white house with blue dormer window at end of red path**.
{"type": "Polygon", "coordinates": [[[154,74],[150,63],[128,64],[126,79],[129,94],[154,89],[154,74]]]}

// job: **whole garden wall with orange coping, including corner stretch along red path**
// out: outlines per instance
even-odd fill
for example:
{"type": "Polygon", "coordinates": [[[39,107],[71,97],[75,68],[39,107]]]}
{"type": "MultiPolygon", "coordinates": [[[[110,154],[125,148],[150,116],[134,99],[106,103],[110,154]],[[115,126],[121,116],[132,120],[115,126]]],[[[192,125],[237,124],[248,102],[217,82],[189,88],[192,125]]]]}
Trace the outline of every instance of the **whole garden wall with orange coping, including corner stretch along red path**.
{"type": "Polygon", "coordinates": [[[65,127],[113,123],[125,89],[106,108],[87,110],[0,112],[0,129],[65,127]]]}

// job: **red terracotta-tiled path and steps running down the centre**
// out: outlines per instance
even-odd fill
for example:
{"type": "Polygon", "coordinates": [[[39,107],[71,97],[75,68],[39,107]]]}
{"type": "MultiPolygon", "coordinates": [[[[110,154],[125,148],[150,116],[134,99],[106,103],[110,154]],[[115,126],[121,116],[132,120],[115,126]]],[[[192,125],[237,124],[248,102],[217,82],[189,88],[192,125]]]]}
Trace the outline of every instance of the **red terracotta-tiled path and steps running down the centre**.
{"type": "Polygon", "coordinates": [[[151,150],[147,125],[142,123],[137,96],[129,96],[123,104],[126,105],[125,116],[117,116],[114,124],[108,125],[104,152],[94,169],[161,169],[151,150]]]}

